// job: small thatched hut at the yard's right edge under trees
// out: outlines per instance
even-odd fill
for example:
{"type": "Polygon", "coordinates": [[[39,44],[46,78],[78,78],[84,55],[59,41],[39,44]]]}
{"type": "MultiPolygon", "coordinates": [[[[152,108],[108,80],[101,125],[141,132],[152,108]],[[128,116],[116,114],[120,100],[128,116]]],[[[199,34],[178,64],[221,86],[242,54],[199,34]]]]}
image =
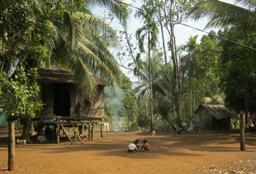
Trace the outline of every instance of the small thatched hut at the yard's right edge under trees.
{"type": "Polygon", "coordinates": [[[200,104],[194,112],[192,124],[202,129],[229,129],[232,114],[222,104],[200,104]]]}

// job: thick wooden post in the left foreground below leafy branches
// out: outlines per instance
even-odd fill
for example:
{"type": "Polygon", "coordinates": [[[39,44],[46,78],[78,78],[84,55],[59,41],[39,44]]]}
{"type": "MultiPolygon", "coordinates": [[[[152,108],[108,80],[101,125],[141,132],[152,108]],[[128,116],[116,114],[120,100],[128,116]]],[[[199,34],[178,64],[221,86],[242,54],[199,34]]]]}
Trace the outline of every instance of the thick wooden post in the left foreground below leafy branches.
{"type": "Polygon", "coordinates": [[[8,120],[9,140],[8,140],[8,170],[14,170],[15,157],[15,123],[13,120],[8,120]]]}

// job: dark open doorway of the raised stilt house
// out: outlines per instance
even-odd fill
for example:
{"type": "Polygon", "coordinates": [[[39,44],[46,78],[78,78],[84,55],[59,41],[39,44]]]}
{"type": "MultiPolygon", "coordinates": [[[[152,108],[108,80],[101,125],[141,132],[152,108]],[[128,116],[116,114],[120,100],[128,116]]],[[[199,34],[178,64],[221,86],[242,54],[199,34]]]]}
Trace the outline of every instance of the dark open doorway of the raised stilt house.
{"type": "Polygon", "coordinates": [[[70,116],[70,84],[55,83],[53,114],[56,116],[70,116]]]}

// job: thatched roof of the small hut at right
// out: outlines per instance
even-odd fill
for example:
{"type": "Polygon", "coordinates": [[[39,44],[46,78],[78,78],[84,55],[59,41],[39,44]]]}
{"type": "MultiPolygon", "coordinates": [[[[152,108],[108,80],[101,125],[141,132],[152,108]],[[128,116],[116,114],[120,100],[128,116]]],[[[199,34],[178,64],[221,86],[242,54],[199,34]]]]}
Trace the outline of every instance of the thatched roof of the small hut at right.
{"type": "Polygon", "coordinates": [[[223,104],[200,104],[194,114],[197,115],[200,111],[202,111],[202,108],[204,108],[208,114],[217,118],[218,120],[232,117],[232,114],[223,104]]]}

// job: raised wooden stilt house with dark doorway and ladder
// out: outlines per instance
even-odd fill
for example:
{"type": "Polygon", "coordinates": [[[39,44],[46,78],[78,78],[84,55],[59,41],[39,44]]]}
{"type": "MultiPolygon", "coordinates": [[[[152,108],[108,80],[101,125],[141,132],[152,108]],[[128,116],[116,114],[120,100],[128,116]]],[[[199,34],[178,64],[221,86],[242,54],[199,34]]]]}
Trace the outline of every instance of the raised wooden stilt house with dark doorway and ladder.
{"type": "MultiPolygon", "coordinates": [[[[40,68],[37,73],[39,75],[38,84],[40,85],[38,100],[41,100],[45,105],[40,112],[36,113],[33,120],[39,120],[44,125],[50,124],[57,127],[55,128],[57,129],[57,143],[59,142],[59,128],[65,131],[65,126],[62,124],[72,126],[75,131],[77,127],[86,126],[89,128],[89,141],[92,141],[93,127],[95,124],[101,123],[101,138],[103,137],[103,96],[104,86],[108,83],[96,78],[98,92],[93,102],[90,102],[88,95],[76,88],[75,78],[69,72],[40,68]]],[[[76,134],[78,133],[76,132],[76,134]]]]}

